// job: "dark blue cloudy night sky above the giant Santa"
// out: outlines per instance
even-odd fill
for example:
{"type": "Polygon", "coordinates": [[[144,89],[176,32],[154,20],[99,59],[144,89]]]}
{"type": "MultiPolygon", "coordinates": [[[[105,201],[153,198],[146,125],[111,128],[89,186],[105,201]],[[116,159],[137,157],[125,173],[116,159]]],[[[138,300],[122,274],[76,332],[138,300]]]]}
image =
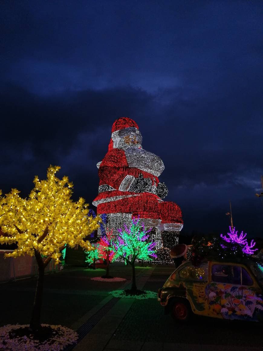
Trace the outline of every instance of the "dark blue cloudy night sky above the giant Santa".
{"type": "Polygon", "coordinates": [[[262,1],[1,1],[0,188],[61,166],[91,204],[119,117],[165,166],[184,233],[263,237],[262,1]]]}

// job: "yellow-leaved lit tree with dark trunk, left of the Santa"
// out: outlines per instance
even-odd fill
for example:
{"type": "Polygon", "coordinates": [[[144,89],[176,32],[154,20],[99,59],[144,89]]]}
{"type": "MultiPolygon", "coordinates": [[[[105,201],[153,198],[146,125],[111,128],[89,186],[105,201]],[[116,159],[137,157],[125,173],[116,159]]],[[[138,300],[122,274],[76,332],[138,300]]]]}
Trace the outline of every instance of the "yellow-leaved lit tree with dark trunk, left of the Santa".
{"type": "Polygon", "coordinates": [[[51,259],[60,262],[61,250],[65,244],[82,246],[93,250],[84,238],[99,227],[100,217],[88,217],[88,204],[83,198],[74,202],[71,198],[73,184],[68,177],[55,176],[60,169],[49,166],[47,179],[34,179],[35,187],[28,199],[19,196],[12,189],[6,196],[0,191],[0,244],[16,243],[17,249],[6,254],[18,257],[28,254],[35,256],[38,264],[38,282],[30,328],[35,332],[40,328],[44,270],[51,259]]]}

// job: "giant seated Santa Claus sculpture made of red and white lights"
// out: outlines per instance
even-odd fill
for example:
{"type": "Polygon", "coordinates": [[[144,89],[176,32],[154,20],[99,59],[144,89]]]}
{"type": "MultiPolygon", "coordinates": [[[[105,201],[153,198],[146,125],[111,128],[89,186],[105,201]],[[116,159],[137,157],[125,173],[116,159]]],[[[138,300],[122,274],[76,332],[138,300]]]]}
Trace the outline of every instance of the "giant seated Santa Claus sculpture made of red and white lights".
{"type": "Polygon", "coordinates": [[[166,185],[158,179],[164,170],[163,161],[142,148],[142,135],[135,121],[122,117],[113,123],[108,152],[97,168],[99,194],[93,205],[107,229],[117,235],[117,229],[123,224],[129,226],[131,219],[139,216],[139,223],[153,228],[151,240],[156,242],[158,260],[169,261],[168,248],[178,243],[183,227],[182,212],[174,202],[163,201],[168,194],[166,185]]]}

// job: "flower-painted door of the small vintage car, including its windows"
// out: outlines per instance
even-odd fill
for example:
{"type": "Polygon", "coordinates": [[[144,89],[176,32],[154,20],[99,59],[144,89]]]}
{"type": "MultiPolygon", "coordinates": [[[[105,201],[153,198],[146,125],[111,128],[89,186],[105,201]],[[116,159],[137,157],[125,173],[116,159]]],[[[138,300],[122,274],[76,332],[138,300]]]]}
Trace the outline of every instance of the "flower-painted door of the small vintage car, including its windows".
{"type": "Polygon", "coordinates": [[[211,262],[209,314],[225,319],[257,320],[257,284],[241,264],[211,262]]]}

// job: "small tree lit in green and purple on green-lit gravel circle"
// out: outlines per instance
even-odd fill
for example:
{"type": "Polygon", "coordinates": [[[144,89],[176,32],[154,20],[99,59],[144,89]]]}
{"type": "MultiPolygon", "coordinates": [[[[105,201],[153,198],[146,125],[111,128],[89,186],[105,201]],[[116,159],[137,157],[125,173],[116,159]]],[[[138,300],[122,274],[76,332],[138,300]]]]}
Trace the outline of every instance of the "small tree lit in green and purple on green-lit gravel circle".
{"type": "Polygon", "coordinates": [[[118,229],[119,236],[112,242],[112,249],[115,252],[114,259],[122,257],[125,264],[130,264],[132,268],[131,293],[136,293],[137,286],[135,280],[135,260],[148,260],[157,257],[154,252],[155,243],[149,242],[149,229],[145,230],[138,225],[139,218],[133,219],[130,227],[124,225],[124,230],[118,229]]]}

